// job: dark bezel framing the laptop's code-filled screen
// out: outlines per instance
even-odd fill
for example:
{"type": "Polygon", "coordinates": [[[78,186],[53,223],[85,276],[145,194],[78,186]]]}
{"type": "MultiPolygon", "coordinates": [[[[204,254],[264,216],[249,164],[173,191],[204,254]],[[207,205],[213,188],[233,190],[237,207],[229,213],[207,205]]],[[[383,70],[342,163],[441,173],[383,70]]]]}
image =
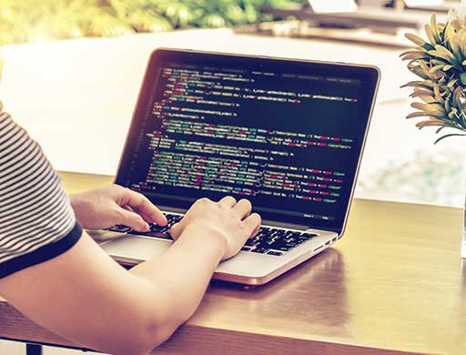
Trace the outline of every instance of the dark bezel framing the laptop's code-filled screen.
{"type": "MultiPolygon", "coordinates": [[[[363,102],[361,103],[361,105],[362,111],[364,112],[366,117],[361,118],[361,124],[365,125],[364,137],[360,148],[358,164],[357,167],[355,167],[355,174],[351,177],[352,184],[349,193],[349,198],[348,200],[340,202],[346,204],[344,208],[345,215],[343,220],[339,221],[338,225],[332,225],[333,222],[331,221],[319,221],[311,219],[305,220],[304,218],[293,218],[289,216],[275,215],[269,214],[268,212],[258,211],[262,215],[262,218],[264,220],[274,221],[278,226],[280,224],[286,226],[303,226],[305,228],[334,231],[341,235],[346,226],[346,221],[348,219],[349,206],[354,193],[360,167],[360,160],[370,126],[370,117],[380,81],[379,68],[377,68],[376,66],[349,65],[344,63],[329,63],[289,58],[245,56],[226,53],[158,48],[152,53],[152,55],[149,58],[146,73],[142,82],[141,89],[139,91],[139,96],[137,97],[137,105],[135,107],[133,117],[131,119],[131,123],[127,132],[127,139],[117,168],[117,176],[115,178],[115,183],[117,185],[125,186],[125,181],[127,181],[127,167],[130,160],[132,159],[131,147],[134,147],[134,142],[137,140],[137,136],[139,135],[139,132],[137,131],[137,123],[138,120],[143,119],[146,116],[145,111],[147,109],[147,103],[150,100],[153,88],[156,85],[157,67],[166,66],[169,63],[189,64],[189,62],[205,62],[206,64],[216,63],[217,65],[228,65],[228,63],[231,63],[235,66],[255,66],[264,69],[273,69],[274,67],[278,68],[279,66],[287,66],[287,71],[289,72],[299,72],[299,70],[302,70],[304,72],[312,72],[319,70],[319,73],[322,73],[322,75],[325,75],[325,73],[329,73],[331,74],[331,76],[342,76],[349,78],[354,77],[363,82],[364,95],[363,102]]],[[[178,211],[186,211],[189,207],[180,207],[179,200],[175,200],[173,198],[152,198],[151,196],[147,196],[147,198],[151,199],[152,202],[157,204],[157,206],[173,208],[178,211]]]]}

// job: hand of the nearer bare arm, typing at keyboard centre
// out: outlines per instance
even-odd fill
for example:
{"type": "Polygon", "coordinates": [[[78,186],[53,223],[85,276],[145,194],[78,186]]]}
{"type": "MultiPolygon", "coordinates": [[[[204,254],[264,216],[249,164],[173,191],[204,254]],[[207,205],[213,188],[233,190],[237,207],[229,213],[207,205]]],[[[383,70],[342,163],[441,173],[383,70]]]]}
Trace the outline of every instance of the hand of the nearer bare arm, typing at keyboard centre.
{"type": "Polygon", "coordinates": [[[189,208],[183,219],[173,225],[170,233],[175,240],[187,234],[213,234],[223,241],[222,259],[229,259],[238,254],[248,238],[258,233],[261,219],[257,213],[251,214],[251,209],[247,199],[237,202],[228,196],[214,202],[201,198],[189,208]]]}

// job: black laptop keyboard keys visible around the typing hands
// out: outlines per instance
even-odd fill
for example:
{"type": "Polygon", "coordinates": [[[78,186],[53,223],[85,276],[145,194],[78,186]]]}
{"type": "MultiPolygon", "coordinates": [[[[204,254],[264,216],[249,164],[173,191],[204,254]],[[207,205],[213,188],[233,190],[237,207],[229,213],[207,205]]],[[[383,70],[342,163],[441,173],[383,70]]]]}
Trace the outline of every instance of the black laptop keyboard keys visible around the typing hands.
{"type": "MultiPolygon", "coordinates": [[[[172,239],[170,236],[170,228],[177,223],[183,216],[165,214],[168,224],[165,227],[151,224],[148,232],[138,232],[127,226],[118,225],[107,230],[118,233],[128,233],[138,236],[146,236],[153,238],[172,239]]],[[[317,234],[299,232],[293,230],[283,230],[278,228],[261,227],[258,234],[254,238],[248,239],[242,251],[253,253],[267,254],[273,256],[281,256],[291,249],[294,249],[302,243],[317,237],[317,234]]]]}

